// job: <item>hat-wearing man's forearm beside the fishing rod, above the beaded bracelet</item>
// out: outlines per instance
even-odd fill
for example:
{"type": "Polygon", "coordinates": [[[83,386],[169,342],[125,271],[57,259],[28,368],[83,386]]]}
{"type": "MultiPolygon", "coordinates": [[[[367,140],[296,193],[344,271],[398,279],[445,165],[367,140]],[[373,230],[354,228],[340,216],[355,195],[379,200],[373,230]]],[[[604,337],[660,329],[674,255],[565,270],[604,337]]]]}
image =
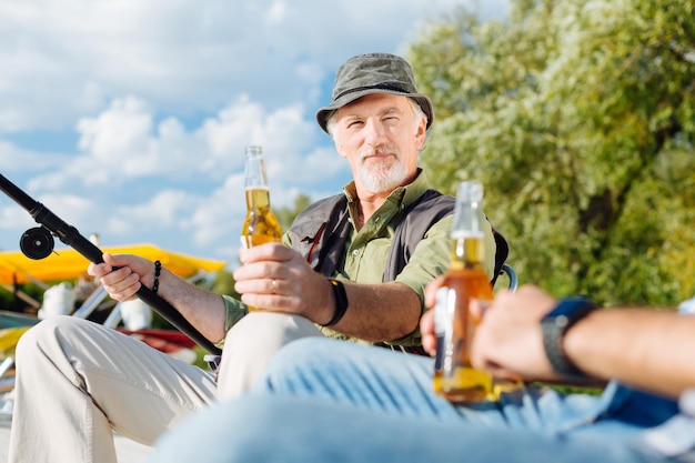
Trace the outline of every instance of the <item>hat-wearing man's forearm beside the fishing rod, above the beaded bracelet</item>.
{"type": "Polygon", "coordinates": [[[221,295],[198,288],[165,268],[159,279],[158,294],[210,341],[219,342],[224,338],[225,313],[221,295]]]}

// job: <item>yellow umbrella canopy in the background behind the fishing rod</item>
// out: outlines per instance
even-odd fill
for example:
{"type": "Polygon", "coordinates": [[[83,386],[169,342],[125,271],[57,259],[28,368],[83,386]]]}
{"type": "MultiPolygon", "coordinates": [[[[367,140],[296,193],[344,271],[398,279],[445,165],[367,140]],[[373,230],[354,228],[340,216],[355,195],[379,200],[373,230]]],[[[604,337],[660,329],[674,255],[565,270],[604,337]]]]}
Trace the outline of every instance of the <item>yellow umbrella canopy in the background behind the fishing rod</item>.
{"type": "MultiPolygon", "coordinates": [[[[152,244],[132,244],[101,248],[110,254],[137,254],[150,260],[159,260],[171,272],[187,278],[198,271],[215,272],[226,264],[192,255],[180,254],[157,248],[152,244]]],[[[73,280],[85,274],[89,261],[71,248],[56,249],[48,258],[32,260],[20,251],[0,252],[0,284],[28,283],[31,281],[73,280]]]]}

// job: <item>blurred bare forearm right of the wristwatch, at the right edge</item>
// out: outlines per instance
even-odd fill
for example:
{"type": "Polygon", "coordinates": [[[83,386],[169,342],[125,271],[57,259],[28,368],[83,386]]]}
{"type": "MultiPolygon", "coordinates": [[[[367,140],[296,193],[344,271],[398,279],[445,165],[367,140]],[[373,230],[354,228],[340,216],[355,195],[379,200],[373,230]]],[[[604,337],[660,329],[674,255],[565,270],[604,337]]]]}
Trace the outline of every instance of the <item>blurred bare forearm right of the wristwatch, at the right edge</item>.
{"type": "Polygon", "coordinates": [[[695,386],[695,318],[656,310],[593,312],[565,335],[565,353],[587,374],[677,396],[695,386]]]}

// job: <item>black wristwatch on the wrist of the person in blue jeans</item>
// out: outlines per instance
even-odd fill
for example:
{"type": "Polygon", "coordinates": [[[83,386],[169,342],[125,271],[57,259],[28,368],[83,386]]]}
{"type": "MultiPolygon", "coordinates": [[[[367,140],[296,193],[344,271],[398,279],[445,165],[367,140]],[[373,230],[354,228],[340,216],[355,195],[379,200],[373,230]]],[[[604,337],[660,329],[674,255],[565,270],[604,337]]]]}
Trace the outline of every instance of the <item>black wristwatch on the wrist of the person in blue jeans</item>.
{"type": "Polygon", "coordinates": [[[565,355],[562,341],[573,324],[594,310],[596,304],[590,299],[567,298],[562,299],[555,309],[541,320],[545,355],[556,373],[564,376],[584,376],[584,373],[565,355]]]}

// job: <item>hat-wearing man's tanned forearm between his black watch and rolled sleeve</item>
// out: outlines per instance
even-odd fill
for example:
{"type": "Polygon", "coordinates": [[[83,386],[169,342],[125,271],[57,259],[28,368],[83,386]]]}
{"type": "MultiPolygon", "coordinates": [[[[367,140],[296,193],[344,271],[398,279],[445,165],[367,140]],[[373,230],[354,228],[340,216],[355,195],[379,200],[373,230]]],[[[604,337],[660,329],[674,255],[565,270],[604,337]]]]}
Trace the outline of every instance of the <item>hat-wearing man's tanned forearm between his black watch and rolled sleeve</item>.
{"type": "Polygon", "coordinates": [[[371,342],[393,341],[417,329],[420,296],[402,283],[345,282],[349,306],[333,330],[371,342]]]}

